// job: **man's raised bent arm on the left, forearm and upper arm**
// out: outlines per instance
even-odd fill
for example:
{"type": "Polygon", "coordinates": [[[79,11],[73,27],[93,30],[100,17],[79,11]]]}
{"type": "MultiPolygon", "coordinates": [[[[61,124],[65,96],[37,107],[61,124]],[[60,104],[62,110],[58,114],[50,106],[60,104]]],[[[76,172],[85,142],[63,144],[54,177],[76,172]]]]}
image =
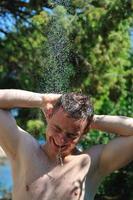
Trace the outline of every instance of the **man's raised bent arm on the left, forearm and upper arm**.
{"type": "Polygon", "coordinates": [[[15,89],[0,90],[0,145],[10,157],[16,156],[22,134],[15,119],[6,110],[14,107],[45,110],[53,105],[59,96],[15,89]]]}

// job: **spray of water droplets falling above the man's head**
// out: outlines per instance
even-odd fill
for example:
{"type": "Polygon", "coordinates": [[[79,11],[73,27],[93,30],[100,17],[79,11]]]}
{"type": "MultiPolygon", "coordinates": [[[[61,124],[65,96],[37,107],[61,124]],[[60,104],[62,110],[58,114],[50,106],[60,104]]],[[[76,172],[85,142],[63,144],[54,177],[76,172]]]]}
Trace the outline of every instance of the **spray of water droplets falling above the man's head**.
{"type": "Polygon", "coordinates": [[[43,77],[40,89],[44,92],[66,92],[70,88],[70,79],[74,69],[70,63],[72,41],[70,41],[70,21],[72,15],[64,6],[70,6],[69,1],[56,0],[47,26],[47,42],[43,48],[41,69],[43,77]]]}

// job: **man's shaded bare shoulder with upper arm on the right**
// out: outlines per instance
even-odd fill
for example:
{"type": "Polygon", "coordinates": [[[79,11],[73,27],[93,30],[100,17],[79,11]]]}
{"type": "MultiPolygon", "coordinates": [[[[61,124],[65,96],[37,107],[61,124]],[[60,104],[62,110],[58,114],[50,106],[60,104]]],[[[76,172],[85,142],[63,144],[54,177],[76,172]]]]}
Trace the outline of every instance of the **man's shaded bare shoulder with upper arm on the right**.
{"type": "Polygon", "coordinates": [[[108,144],[95,145],[85,153],[91,159],[89,172],[104,177],[133,160],[133,136],[114,138],[108,144]]]}

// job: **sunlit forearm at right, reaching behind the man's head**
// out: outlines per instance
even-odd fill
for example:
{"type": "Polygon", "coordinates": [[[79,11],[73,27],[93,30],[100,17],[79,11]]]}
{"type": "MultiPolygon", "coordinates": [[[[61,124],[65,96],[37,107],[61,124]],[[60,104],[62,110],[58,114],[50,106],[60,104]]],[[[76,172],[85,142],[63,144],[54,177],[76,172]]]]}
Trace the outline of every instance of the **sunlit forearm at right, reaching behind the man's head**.
{"type": "Polygon", "coordinates": [[[133,118],[125,116],[94,115],[91,128],[121,136],[133,135],[133,118]]]}

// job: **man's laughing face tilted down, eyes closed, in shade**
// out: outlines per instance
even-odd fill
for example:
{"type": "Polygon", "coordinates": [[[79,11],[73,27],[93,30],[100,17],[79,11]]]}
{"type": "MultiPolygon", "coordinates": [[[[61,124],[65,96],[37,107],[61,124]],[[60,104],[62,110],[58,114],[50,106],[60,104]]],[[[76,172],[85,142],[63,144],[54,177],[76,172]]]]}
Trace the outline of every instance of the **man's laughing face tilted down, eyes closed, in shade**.
{"type": "Polygon", "coordinates": [[[61,148],[62,155],[71,154],[83,135],[87,122],[68,116],[62,108],[56,111],[48,120],[46,131],[47,144],[51,151],[57,154],[61,148]]]}

